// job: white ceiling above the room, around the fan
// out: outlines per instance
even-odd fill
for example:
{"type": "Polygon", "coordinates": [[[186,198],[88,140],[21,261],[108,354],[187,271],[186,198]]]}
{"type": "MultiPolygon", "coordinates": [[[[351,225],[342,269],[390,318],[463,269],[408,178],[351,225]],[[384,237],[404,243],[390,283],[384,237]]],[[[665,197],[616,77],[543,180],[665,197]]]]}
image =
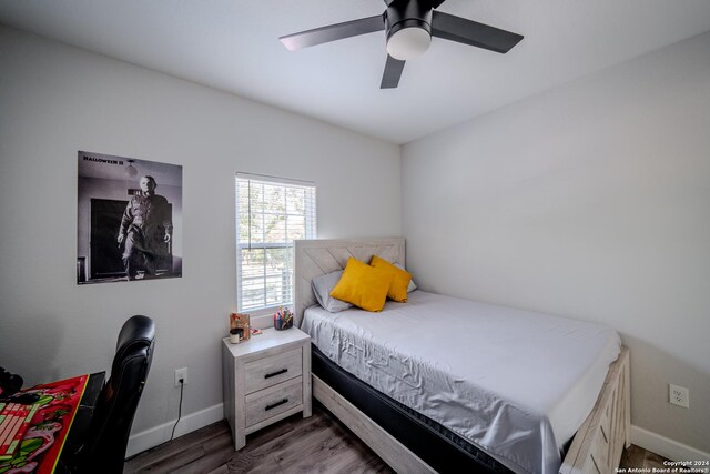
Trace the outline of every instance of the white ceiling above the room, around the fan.
{"type": "Polygon", "coordinates": [[[435,38],[381,90],[384,32],[287,51],[280,36],[382,13],[382,0],[0,0],[0,22],[405,143],[710,31],[709,0],[447,0],[525,36],[508,54],[435,38]]]}

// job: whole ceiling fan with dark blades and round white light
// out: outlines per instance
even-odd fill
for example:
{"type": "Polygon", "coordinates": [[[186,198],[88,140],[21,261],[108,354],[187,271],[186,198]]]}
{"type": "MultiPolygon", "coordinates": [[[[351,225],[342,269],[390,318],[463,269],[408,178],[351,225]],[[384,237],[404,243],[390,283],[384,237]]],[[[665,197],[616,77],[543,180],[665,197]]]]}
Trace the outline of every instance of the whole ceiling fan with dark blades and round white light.
{"type": "Polygon", "coordinates": [[[280,40],[287,49],[296,51],[385,30],[387,62],[379,88],[394,89],[399,84],[405,62],[424,54],[429,48],[432,37],[500,53],[508,52],[523,39],[520,34],[510,31],[436,11],[444,1],[385,0],[387,8],[383,14],[287,34],[280,40]]]}

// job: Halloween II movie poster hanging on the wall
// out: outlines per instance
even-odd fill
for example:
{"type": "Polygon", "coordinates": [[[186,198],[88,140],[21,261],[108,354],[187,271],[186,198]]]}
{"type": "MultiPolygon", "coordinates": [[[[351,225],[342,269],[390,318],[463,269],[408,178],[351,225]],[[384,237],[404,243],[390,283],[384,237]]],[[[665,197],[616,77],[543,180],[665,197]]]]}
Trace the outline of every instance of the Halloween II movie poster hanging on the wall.
{"type": "Polygon", "coordinates": [[[182,276],[182,167],[79,152],[77,283],[182,276]]]}

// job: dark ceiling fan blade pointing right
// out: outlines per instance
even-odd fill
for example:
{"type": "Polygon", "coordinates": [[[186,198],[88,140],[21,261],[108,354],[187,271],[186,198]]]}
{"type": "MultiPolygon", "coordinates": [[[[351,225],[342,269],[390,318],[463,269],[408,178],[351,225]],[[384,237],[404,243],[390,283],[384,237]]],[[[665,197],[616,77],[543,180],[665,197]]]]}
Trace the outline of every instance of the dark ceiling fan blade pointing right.
{"type": "Polygon", "coordinates": [[[501,53],[523,39],[520,34],[436,10],[432,16],[432,36],[501,53]]]}

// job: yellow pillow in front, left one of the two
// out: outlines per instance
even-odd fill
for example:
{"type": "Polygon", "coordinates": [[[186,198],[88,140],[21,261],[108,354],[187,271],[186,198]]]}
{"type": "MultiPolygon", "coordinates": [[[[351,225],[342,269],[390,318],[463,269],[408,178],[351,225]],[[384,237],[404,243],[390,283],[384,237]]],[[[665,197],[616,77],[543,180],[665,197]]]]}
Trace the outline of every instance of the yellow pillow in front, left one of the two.
{"type": "Polygon", "coordinates": [[[331,296],[347,301],[366,311],[382,311],[393,275],[352,256],[331,296]]]}

